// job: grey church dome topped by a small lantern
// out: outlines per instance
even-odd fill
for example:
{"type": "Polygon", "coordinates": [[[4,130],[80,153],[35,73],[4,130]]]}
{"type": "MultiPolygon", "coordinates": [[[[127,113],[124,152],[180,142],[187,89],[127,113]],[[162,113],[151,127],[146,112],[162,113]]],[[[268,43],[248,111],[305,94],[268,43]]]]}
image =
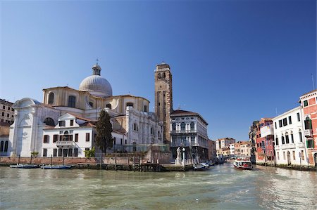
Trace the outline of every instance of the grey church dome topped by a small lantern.
{"type": "Polygon", "coordinates": [[[86,77],[80,83],[80,91],[89,91],[94,96],[112,96],[112,88],[108,80],[100,76],[101,67],[97,64],[92,67],[92,75],[86,77]]]}

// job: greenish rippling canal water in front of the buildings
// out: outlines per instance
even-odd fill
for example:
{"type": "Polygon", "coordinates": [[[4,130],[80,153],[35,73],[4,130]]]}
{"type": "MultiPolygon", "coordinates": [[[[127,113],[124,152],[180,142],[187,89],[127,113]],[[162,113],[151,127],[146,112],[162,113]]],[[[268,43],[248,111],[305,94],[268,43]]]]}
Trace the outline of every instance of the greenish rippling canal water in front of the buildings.
{"type": "Polygon", "coordinates": [[[317,209],[317,173],[231,164],[209,171],[0,167],[0,209],[317,209]]]}

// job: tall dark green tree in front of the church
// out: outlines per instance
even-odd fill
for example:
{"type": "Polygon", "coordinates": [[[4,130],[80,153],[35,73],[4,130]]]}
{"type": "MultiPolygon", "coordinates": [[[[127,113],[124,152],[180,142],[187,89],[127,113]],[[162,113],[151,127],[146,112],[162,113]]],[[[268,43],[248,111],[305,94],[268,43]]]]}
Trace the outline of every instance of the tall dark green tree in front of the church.
{"type": "Polygon", "coordinates": [[[112,124],[108,112],[101,110],[96,130],[96,145],[106,154],[106,150],[111,149],[113,146],[112,124]]]}

